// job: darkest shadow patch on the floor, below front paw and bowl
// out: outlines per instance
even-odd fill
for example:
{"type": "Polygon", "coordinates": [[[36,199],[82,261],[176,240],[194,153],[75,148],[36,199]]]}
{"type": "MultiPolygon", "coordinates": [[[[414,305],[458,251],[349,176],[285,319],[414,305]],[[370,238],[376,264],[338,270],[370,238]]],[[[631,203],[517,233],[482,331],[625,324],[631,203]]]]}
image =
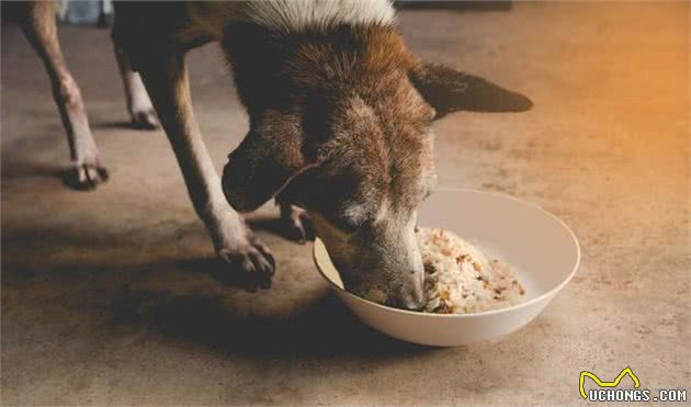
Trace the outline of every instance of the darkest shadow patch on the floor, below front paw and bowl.
{"type": "Polygon", "coordinates": [[[137,324],[172,339],[222,352],[365,357],[427,349],[389,339],[363,326],[331,295],[283,318],[238,318],[219,297],[204,294],[169,297],[161,293],[129,292],[118,301],[121,321],[132,323],[134,317],[137,324]]]}

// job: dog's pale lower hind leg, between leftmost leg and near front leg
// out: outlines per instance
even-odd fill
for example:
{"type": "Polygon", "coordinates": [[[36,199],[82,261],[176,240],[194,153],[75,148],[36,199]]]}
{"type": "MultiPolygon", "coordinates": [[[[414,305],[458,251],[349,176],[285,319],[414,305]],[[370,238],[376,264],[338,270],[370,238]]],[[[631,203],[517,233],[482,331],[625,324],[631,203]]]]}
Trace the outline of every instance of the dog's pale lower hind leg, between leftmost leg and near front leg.
{"type": "Polygon", "coordinates": [[[135,128],[155,129],[158,128],[156,111],[149,99],[149,94],[141,82],[139,74],[132,69],[127,55],[122,47],[115,45],[115,58],[123,78],[125,97],[127,98],[127,112],[135,128]]]}

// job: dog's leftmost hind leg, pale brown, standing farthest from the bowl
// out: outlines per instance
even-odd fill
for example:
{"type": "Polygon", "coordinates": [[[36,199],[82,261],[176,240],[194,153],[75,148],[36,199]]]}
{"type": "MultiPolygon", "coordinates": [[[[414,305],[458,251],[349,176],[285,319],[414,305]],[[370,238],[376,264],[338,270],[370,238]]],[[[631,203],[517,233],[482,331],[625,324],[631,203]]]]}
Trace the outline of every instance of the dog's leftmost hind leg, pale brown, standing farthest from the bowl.
{"type": "Polygon", "coordinates": [[[105,181],[107,172],[99,155],[77,82],[67,69],[57,37],[54,4],[49,1],[27,2],[21,26],[34,46],[50,77],[53,97],[60,112],[72,160],[70,184],[91,189],[105,181]]]}

